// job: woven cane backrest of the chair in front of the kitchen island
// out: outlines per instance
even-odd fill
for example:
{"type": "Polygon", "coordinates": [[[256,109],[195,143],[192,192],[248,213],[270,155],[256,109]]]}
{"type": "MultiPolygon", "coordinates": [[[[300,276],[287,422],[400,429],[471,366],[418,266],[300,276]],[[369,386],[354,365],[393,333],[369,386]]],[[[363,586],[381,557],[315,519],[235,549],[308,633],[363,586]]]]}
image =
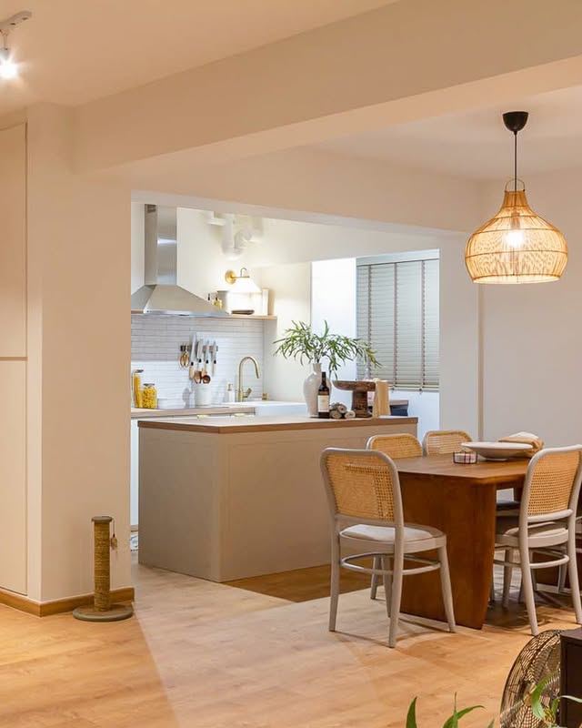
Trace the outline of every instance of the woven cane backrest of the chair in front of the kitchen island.
{"type": "Polygon", "coordinates": [[[327,448],[321,470],[334,518],[403,524],[398,471],[383,453],[327,448]]]}

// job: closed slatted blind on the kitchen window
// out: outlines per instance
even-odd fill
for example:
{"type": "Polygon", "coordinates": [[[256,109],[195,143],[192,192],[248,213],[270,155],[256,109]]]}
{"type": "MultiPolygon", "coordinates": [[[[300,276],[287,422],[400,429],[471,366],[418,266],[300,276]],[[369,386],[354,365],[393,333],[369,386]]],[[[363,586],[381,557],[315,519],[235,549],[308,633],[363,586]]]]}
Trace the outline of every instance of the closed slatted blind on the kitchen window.
{"type": "Polygon", "coordinates": [[[379,369],[358,362],[358,379],[395,389],[438,389],[438,260],[357,265],[357,336],[376,350],[379,369]]]}

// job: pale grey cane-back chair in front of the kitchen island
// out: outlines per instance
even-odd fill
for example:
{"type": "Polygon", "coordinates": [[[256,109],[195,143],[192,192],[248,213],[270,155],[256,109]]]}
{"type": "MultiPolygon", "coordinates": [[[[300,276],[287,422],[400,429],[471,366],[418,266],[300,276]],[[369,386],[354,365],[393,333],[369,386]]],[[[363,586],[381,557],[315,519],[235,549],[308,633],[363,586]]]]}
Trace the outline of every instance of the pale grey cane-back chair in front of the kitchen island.
{"type": "MultiPolygon", "coordinates": [[[[377,450],[347,450],[343,448],[326,448],[321,454],[321,471],[326,488],[327,503],[331,521],[331,583],[330,583],[330,605],[329,605],[329,631],[336,630],[337,602],[339,597],[340,570],[350,569],[369,574],[381,576],[386,590],[386,613],[389,618],[388,646],[396,646],[396,634],[398,630],[398,618],[400,612],[400,601],[402,596],[402,580],[404,576],[424,573],[426,571],[440,571],[441,589],[443,602],[447,614],[448,627],[455,632],[455,614],[453,608],[453,594],[451,590],[450,575],[447,559],[447,536],[437,529],[430,530],[429,527],[405,524],[404,510],[402,505],[402,494],[396,465],[390,458],[377,450]],[[360,508],[357,499],[349,497],[351,511],[342,512],[338,507],[337,493],[341,490],[337,486],[336,475],[330,470],[330,464],[336,460],[346,460],[344,470],[354,473],[364,481],[370,497],[366,497],[366,508],[364,504],[360,508]],[[370,517],[370,504],[379,501],[377,482],[382,482],[383,496],[387,503],[386,517],[382,517],[380,508],[376,508],[376,517],[370,517]],[[387,483],[390,488],[387,488],[387,483]],[[376,492],[375,492],[376,491],[376,492]],[[360,512],[357,512],[360,511],[360,512]],[[388,517],[389,516],[389,517],[388,517]],[[355,536],[354,527],[372,526],[386,530],[386,540],[378,538],[366,538],[355,536]],[[428,536],[422,538],[406,538],[406,529],[424,530],[428,536]],[[366,547],[371,551],[358,552],[355,555],[342,556],[341,546],[358,544],[359,547],[366,547]],[[438,558],[428,559],[418,554],[424,551],[437,550],[438,558]],[[361,559],[381,560],[381,568],[374,566],[369,568],[357,561],[361,559]],[[404,568],[404,561],[416,561],[420,566],[404,568]]],[[[343,466],[342,466],[343,467],[343,466]]],[[[348,478],[346,477],[346,480],[348,478]]],[[[361,484],[361,483],[360,483],[361,484]]],[[[343,483],[343,492],[350,489],[343,483]]],[[[362,501],[363,503],[363,501],[362,501]]],[[[345,511],[348,509],[345,508],[345,511]]],[[[384,531],[376,531],[384,533],[384,531]]],[[[410,531],[409,531],[410,532],[410,531]]],[[[413,531],[414,532],[414,531],[413,531]]]]}

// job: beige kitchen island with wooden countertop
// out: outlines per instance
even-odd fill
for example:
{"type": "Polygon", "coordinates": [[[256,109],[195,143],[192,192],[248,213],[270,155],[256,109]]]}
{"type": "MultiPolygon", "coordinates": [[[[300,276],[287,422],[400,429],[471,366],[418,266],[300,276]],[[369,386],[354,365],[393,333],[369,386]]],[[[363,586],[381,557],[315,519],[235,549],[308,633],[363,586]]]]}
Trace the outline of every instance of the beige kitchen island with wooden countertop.
{"type": "Polygon", "coordinates": [[[328,563],[321,451],[363,448],[378,432],[416,435],[416,422],[140,421],[140,563],[212,581],[328,563]]]}

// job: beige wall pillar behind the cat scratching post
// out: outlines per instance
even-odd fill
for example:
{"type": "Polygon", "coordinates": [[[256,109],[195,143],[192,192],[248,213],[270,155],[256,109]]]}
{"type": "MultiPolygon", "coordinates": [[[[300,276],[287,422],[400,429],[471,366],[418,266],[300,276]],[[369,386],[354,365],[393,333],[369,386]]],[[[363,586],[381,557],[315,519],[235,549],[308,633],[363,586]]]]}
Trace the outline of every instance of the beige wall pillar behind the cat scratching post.
{"type": "Polygon", "coordinates": [[[93,591],[91,517],[115,517],[112,586],[129,573],[130,196],[75,176],[69,113],[28,115],[29,584],[93,591]]]}

